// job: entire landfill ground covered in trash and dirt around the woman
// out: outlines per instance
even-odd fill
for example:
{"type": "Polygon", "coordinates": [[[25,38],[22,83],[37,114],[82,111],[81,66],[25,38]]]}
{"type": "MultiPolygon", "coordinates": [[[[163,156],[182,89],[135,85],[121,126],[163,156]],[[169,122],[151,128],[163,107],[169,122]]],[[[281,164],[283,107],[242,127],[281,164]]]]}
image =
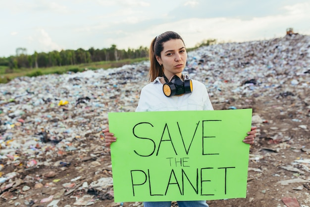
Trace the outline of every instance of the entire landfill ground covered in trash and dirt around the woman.
{"type": "MultiPolygon", "coordinates": [[[[17,77],[0,85],[1,207],[142,207],[114,203],[108,112],[133,112],[149,62],[17,77]]],[[[310,36],[223,43],[188,52],[184,73],[215,110],[252,108],[245,199],[210,207],[310,207],[310,36]]],[[[172,206],[177,206],[172,202],[172,206]]]]}

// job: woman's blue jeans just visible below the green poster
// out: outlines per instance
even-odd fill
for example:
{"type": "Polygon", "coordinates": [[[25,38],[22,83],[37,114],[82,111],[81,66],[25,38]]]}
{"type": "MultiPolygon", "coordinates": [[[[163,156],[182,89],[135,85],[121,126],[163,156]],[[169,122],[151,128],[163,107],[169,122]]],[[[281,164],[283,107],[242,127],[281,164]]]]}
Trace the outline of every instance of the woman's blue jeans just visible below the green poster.
{"type": "MultiPolygon", "coordinates": [[[[171,207],[171,201],[143,202],[144,207],[171,207]]],[[[209,207],[206,201],[178,201],[179,207],[209,207]]]]}

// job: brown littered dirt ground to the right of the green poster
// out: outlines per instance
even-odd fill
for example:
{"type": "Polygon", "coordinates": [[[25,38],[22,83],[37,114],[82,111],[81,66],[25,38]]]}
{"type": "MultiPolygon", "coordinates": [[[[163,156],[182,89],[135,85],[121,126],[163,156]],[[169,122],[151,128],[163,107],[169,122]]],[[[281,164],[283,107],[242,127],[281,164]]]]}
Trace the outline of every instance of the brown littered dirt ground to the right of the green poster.
{"type": "Polygon", "coordinates": [[[296,99],[293,97],[256,98],[252,103],[254,114],[259,114],[265,123],[258,125],[258,137],[250,149],[247,198],[207,203],[210,207],[283,207],[281,199],[291,197],[296,198],[300,206],[310,206],[309,171],[301,174],[282,168],[291,165],[294,160],[310,158],[309,131],[299,128],[301,123],[292,121],[303,117],[302,123],[309,126],[309,110],[302,113],[294,112],[296,99]],[[287,109],[289,110],[283,115],[281,111],[287,109]],[[278,183],[296,178],[308,182],[288,185],[278,183]],[[298,187],[301,190],[294,190],[298,187]]]}

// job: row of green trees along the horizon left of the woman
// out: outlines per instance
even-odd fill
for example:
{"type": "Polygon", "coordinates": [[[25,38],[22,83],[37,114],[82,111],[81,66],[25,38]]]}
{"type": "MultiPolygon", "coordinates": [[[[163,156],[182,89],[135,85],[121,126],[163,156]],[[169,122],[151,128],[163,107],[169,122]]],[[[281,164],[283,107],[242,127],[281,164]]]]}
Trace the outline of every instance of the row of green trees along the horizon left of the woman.
{"type": "Polygon", "coordinates": [[[32,55],[27,55],[27,49],[25,48],[17,48],[15,56],[0,58],[0,66],[9,69],[48,68],[101,61],[145,58],[148,55],[149,49],[147,47],[140,46],[138,49],[128,48],[127,50],[119,50],[114,44],[109,48],[103,49],[91,47],[88,50],[82,48],[77,50],[61,50],[60,52],[54,50],[49,53],[34,52],[32,55]]]}

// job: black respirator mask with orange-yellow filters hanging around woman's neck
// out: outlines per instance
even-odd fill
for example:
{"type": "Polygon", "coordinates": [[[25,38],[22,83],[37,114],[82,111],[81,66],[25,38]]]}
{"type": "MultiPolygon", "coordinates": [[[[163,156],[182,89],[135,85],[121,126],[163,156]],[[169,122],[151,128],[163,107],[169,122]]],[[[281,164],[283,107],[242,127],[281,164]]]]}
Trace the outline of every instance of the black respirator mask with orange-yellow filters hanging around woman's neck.
{"type": "Polygon", "coordinates": [[[193,83],[188,75],[182,75],[182,79],[177,75],[172,76],[170,80],[165,75],[163,75],[163,78],[166,83],[163,84],[162,90],[167,97],[181,96],[193,91],[193,83]]]}

